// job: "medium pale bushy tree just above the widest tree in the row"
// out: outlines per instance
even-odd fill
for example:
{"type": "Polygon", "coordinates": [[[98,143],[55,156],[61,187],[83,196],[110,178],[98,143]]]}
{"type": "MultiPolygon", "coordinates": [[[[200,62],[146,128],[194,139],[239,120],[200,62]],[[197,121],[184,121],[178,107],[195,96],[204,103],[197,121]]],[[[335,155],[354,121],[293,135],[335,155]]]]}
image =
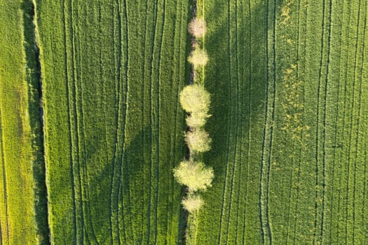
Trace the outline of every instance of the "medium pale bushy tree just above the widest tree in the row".
{"type": "Polygon", "coordinates": [[[212,139],[204,130],[194,130],[193,132],[186,132],[185,141],[190,151],[204,153],[210,150],[212,139]]]}

